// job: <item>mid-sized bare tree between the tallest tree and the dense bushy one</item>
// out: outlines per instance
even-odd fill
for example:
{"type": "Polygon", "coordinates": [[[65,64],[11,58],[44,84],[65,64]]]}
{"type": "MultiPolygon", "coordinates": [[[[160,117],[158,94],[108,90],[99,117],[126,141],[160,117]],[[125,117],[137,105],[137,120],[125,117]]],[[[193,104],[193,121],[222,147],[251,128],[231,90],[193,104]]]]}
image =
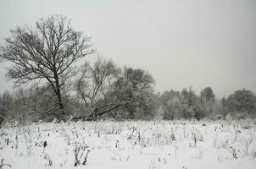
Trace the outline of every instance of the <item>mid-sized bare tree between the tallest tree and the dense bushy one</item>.
{"type": "Polygon", "coordinates": [[[118,74],[120,69],[112,61],[104,61],[101,57],[92,67],[87,62],[81,66],[80,76],[75,80],[75,90],[87,109],[94,109],[99,99],[107,102],[109,87],[118,74]]]}

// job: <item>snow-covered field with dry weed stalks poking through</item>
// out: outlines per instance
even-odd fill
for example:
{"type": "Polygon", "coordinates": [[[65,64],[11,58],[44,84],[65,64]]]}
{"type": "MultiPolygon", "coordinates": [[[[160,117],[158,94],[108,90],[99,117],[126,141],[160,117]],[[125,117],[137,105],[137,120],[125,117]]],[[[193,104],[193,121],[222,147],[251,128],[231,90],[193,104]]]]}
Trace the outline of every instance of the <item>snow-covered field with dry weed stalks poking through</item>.
{"type": "Polygon", "coordinates": [[[256,166],[253,121],[4,124],[0,134],[1,169],[256,166]]]}

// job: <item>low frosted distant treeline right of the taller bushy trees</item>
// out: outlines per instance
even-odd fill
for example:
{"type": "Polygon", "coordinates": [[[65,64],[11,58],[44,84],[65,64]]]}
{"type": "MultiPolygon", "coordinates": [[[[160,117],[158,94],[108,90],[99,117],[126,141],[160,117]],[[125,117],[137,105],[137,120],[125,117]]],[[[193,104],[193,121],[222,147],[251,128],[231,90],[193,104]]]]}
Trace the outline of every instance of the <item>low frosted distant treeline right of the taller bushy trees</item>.
{"type": "Polygon", "coordinates": [[[227,98],[217,100],[214,91],[204,88],[200,95],[192,89],[164,91],[156,95],[159,117],[164,119],[196,118],[245,118],[256,115],[256,95],[250,90],[237,90],[227,98]]]}

